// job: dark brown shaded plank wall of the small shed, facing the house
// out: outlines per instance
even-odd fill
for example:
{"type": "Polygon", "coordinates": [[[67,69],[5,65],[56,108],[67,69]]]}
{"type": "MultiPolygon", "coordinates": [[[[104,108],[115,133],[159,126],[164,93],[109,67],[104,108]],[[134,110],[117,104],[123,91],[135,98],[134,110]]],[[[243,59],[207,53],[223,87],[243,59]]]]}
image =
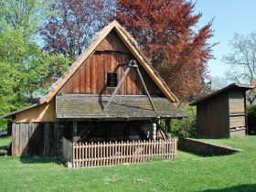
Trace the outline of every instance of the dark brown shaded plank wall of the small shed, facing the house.
{"type": "Polygon", "coordinates": [[[229,92],[197,104],[197,135],[229,137],[229,92]]]}

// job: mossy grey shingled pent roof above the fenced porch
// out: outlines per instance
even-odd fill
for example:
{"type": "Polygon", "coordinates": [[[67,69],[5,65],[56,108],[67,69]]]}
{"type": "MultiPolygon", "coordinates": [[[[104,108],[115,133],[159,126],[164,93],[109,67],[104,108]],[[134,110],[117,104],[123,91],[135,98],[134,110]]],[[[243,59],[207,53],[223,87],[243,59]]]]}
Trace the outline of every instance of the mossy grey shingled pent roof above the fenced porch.
{"type": "Polygon", "coordinates": [[[144,95],[117,95],[108,108],[103,107],[111,96],[72,94],[56,96],[56,112],[59,119],[152,119],[182,118],[184,113],[166,98],[153,96],[156,112],[144,95]]]}

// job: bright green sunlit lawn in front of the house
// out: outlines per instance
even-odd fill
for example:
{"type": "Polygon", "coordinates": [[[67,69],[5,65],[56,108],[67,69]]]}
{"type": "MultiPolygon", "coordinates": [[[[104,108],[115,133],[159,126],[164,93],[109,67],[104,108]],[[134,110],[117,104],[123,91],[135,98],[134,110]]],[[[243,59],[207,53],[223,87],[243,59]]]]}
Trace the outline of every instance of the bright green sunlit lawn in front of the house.
{"type": "Polygon", "coordinates": [[[176,160],[80,169],[56,159],[4,156],[0,191],[255,191],[256,136],[209,141],[246,151],[211,157],[179,151],[176,160]]]}

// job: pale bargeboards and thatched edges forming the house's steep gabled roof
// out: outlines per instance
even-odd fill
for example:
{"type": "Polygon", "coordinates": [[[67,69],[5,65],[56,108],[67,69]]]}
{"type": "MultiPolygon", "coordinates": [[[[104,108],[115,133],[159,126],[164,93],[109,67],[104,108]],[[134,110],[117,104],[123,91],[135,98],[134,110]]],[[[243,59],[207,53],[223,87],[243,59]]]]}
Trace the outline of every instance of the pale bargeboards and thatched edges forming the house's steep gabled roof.
{"type": "Polygon", "coordinates": [[[117,21],[112,21],[108,26],[104,27],[101,32],[97,33],[96,36],[91,40],[91,45],[84,51],[69,67],[67,72],[59,78],[49,89],[48,93],[40,99],[40,103],[49,102],[57,92],[65,85],[65,83],[72,77],[72,75],[80,68],[82,63],[89,59],[94,53],[95,48],[97,48],[101,41],[112,31],[114,30],[116,34],[123,40],[123,43],[129,50],[133,53],[135,59],[143,66],[152,80],[155,81],[155,84],[160,88],[161,91],[165,94],[165,97],[172,102],[178,102],[175,94],[169,90],[165,81],[159,76],[155,69],[151,66],[150,62],[144,56],[143,52],[138,48],[136,41],[129,35],[129,33],[120,26],[117,21]]]}

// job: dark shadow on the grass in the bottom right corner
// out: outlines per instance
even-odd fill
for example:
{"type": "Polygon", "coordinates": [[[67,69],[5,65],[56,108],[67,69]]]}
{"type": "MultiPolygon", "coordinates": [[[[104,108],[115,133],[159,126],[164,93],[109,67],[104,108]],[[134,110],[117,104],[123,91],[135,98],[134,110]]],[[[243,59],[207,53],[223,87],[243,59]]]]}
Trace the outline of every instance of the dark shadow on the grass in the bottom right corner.
{"type": "Polygon", "coordinates": [[[240,192],[240,191],[256,191],[256,184],[248,184],[248,185],[241,185],[241,186],[234,186],[234,187],[227,187],[221,189],[208,189],[204,190],[203,192],[240,192]]]}

